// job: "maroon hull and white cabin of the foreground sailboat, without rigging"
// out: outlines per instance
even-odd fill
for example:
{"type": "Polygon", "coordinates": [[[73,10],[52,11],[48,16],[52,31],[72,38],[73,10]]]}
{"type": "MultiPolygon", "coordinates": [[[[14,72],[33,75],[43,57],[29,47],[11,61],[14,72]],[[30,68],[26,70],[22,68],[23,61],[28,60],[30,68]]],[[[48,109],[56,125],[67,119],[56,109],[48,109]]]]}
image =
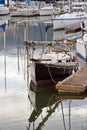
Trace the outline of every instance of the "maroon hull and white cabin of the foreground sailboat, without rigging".
{"type": "Polygon", "coordinates": [[[39,56],[30,58],[28,65],[35,85],[56,84],[78,69],[76,56],[69,50],[52,48],[39,56]]]}

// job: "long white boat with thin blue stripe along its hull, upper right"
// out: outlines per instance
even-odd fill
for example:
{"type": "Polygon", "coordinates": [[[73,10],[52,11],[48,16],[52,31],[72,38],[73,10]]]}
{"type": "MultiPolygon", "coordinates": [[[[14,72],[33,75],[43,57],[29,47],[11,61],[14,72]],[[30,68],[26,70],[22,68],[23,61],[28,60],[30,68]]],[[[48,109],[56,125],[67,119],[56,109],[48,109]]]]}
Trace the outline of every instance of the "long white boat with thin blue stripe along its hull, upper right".
{"type": "Polygon", "coordinates": [[[87,13],[81,11],[56,15],[52,19],[53,30],[64,29],[69,26],[75,26],[77,24],[80,24],[85,19],[87,19],[87,13]]]}

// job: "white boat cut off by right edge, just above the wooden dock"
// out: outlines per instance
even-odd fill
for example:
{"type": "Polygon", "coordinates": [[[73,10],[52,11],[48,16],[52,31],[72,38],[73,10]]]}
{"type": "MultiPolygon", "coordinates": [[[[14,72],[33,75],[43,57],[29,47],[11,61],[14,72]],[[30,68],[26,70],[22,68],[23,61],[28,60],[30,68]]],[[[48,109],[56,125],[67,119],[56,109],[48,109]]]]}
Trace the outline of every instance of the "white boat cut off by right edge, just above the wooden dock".
{"type": "Polygon", "coordinates": [[[77,39],[76,51],[78,56],[87,60],[87,33],[85,33],[82,38],[77,39]]]}

